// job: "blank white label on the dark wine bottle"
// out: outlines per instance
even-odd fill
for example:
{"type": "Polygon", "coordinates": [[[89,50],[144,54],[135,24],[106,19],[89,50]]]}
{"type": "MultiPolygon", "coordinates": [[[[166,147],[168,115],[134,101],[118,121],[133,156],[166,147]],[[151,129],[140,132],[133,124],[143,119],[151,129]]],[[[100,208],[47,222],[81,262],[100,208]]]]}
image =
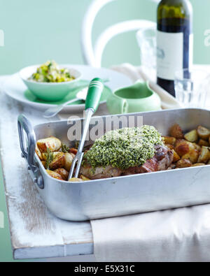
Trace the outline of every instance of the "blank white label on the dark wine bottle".
{"type": "MultiPolygon", "coordinates": [[[[193,45],[193,39],[190,39],[190,41],[190,45],[193,45]]],[[[158,78],[162,78],[164,80],[174,80],[175,72],[183,69],[184,55],[189,55],[190,51],[192,52],[193,47],[190,46],[191,50],[189,49],[189,52],[184,53],[183,32],[166,33],[163,31],[158,31],[157,45],[158,78]]]]}

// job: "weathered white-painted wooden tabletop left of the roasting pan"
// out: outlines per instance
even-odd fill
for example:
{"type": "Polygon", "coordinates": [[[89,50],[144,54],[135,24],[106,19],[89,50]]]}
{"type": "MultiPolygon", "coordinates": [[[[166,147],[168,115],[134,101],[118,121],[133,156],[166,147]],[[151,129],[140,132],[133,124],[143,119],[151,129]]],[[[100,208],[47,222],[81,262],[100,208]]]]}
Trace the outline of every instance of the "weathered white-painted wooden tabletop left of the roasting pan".
{"type": "Polygon", "coordinates": [[[17,118],[24,113],[33,124],[45,122],[41,112],[22,106],[3,93],[1,101],[1,161],[10,235],[15,259],[92,254],[90,222],[69,222],[45,208],[20,154],[17,118]]]}

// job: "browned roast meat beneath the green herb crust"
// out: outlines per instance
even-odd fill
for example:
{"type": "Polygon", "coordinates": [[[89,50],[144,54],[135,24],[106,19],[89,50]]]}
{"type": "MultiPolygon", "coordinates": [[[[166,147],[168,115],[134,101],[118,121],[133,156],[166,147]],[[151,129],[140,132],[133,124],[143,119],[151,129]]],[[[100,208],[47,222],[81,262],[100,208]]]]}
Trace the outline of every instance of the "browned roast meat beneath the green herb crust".
{"type": "Polygon", "coordinates": [[[143,166],[136,166],[120,170],[120,168],[113,168],[112,166],[97,167],[92,170],[89,165],[82,166],[80,173],[91,180],[97,180],[109,177],[118,177],[121,175],[135,175],[139,173],[153,173],[159,170],[167,170],[171,166],[174,159],[172,150],[162,145],[155,146],[155,156],[148,159],[143,166]]]}

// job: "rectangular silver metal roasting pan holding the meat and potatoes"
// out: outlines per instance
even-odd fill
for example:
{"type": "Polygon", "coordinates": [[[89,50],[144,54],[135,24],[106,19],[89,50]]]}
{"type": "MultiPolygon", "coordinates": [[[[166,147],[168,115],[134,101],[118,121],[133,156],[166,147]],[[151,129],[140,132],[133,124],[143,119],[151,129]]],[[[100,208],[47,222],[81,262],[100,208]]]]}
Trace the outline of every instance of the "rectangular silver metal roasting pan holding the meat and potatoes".
{"type": "MultiPolygon", "coordinates": [[[[139,124],[138,118],[142,117],[144,124],[155,126],[164,136],[169,134],[169,128],[176,123],[180,124],[184,131],[195,129],[198,125],[210,128],[210,111],[202,109],[104,116],[99,117],[98,124],[103,129],[105,120],[116,120],[122,116],[134,117],[135,126],[139,124]]],[[[93,118],[93,121],[90,129],[94,127],[96,119],[93,118]]],[[[22,157],[27,160],[29,173],[45,205],[55,216],[71,221],[86,221],[210,203],[210,166],[89,182],[53,179],[45,172],[35,154],[35,140],[55,136],[63,143],[69,144],[67,133],[78,122],[83,122],[83,119],[50,122],[33,128],[26,117],[20,116],[18,119],[22,157]],[[27,147],[24,146],[24,131],[27,134],[27,147]]]]}

